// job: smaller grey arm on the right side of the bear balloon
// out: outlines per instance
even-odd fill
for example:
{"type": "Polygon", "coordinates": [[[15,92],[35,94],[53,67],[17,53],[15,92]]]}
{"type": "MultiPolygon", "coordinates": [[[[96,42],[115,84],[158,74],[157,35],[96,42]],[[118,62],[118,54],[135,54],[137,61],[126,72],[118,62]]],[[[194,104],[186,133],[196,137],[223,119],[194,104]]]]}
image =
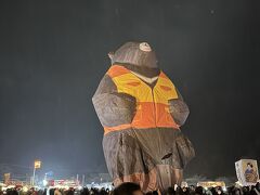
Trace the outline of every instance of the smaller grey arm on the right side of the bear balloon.
{"type": "Polygon", "coordinates": [[[183,126],[187,119],[190,109],[186,103],[183,101],[183,98],[178,90],[177,90],[177,93],[178,93],[178,99],[173,99],[169,101],[170,114],[179,126],[183,126]]]}

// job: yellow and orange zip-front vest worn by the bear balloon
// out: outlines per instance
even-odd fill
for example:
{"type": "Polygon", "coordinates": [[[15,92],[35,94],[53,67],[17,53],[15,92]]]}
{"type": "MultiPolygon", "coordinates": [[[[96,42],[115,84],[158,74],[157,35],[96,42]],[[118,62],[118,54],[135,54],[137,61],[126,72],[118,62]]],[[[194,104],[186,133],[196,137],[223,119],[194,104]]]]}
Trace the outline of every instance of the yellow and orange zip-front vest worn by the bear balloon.
{"type": "Polygon", "coordinates": [[[106,73],[117,87],[118,93],[129,94],[136,100],[136,113],[131,123],[104,127],[105,133],[128,128],[179,129],[169,112],[169,100],[178,99],[171,80],[160,72],[154,88],[141,80],[123,66],[113,65],[106,73]]]}

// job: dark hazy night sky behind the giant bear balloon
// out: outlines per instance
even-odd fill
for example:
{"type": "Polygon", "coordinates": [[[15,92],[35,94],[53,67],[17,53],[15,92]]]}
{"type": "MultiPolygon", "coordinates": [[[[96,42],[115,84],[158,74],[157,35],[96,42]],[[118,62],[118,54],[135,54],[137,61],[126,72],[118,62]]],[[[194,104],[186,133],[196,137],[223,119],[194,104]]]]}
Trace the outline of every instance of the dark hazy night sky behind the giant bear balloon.
{"type": "MultiPolygon", "coordinates": [[[[0,166],[106,172],[91,98],[107,53],[147,41],[191,109],[186,176],[260,160],[259,0],[0,1],[0,166]]],[[[260,161],[259,161],[260,162],[260,161]]],[[[26,170],[28,171],[28,170],[26,170]]]]}

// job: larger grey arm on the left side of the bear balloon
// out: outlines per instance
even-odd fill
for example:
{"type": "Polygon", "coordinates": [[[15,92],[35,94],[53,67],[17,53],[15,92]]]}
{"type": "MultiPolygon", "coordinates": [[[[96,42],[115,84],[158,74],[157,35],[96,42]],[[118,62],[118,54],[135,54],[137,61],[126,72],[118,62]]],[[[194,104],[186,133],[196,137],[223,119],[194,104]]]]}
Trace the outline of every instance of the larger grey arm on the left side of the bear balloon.
{"type": "Polygon", "coordinates": [[[118,93],[108,75],[101,80],[92,102],[103,127],[131,123],[135,113],[135,98],[118,93]]]}

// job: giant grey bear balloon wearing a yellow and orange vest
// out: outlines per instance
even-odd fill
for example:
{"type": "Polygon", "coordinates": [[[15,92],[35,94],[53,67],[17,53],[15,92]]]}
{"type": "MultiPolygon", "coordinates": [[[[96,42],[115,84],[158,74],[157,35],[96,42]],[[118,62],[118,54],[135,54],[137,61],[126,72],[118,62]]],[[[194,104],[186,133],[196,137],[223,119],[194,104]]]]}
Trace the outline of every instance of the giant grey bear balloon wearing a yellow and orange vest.
{"type": "Polygon", "coordinates": [[[112,66],[92,102],[104,127],[104,156],[114,184],[135,182],[144,192],[180,184],[195,156],[180,130],[187,105],[147,42],[127,42],[108,55],[112,66]]]}

